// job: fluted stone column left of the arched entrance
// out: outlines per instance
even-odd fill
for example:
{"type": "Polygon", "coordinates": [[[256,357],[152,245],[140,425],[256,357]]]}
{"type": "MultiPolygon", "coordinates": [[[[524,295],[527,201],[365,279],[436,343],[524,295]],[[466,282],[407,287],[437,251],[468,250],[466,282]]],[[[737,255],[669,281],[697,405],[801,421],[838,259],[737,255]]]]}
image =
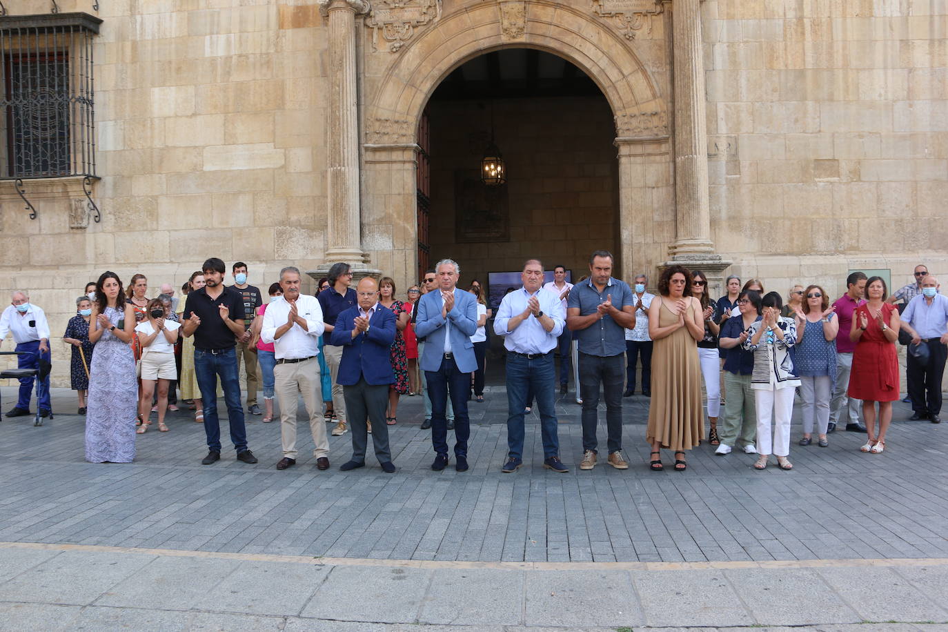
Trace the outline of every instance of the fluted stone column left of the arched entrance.
{"type": "Polygon", "coordinates": [[[326,133],[329,177],[327,262],[361,263],[356,15],[364,0],[319,0],[329,23],[329,117],[326,133]]]}

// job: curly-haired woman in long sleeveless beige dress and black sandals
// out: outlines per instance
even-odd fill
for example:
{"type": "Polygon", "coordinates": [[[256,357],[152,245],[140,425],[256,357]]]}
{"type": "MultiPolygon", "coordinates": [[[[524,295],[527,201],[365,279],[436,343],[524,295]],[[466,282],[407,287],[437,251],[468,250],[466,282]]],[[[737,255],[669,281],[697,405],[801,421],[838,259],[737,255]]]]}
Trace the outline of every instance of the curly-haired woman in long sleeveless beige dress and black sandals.
{"type": "MultiPolygon", "coordinates": [[[[690,280],[691,273],[682,265],[665,268],[658,281],[659,299],[648,308],[648,335],[654,346],[646,437],[652,457],[661,454],[660,448],[674,450],[676,472],[687,469],[684,451],[698,445],[704,434],[698,360],[704,323],[701,302],[691,296],[690,280]]],[[[649,468],[662,471],[661,458],[650,460],[649,468]]]]}

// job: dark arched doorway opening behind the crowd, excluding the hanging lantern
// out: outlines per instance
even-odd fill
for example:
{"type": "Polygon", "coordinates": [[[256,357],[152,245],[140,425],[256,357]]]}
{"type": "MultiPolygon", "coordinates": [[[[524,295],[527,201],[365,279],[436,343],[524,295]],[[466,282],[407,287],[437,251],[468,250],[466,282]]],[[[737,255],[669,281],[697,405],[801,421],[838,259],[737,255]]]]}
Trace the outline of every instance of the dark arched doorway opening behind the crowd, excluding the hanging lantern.
{"type": "Polygon", "coordinates": [[[488,273],[517,271],[531,257],[550,269],[562,263],[578,279],[589,253],[604,248],[621,274],[614,121],[573,63],[536,48],[485,53],[451,71],[425,117],[419,145],[430,186],[419,196],[420,260],[454,259],[463,284],[486,286],[488,273]],[[480,177],[492,142],[506,168],[496,187],[480,177]]]}

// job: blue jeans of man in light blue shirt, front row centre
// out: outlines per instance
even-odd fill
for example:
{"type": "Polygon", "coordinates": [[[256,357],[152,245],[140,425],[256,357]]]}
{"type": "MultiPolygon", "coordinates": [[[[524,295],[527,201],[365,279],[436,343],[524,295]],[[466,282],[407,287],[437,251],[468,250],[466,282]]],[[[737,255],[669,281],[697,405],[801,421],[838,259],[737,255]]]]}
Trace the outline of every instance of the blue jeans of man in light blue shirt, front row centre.
{"type": "Polygon", "coordinates": [[[532,360],[519,353],[507,352],[507,448],[511,459],[523,458],[523,407],[527,406],[528,390],[537,397],[543,458],[559,454],[554,414],[555,377],[553,352],[532,360]]]}

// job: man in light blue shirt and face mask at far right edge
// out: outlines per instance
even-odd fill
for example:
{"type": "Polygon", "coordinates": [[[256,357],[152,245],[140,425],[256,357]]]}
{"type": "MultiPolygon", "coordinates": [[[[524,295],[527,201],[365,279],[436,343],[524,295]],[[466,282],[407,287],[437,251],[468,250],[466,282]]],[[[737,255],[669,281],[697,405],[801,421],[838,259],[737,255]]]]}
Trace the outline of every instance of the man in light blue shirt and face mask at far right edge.
{"type": "Polygon", "coordinates": [[[927,275],[921,280],[921,295],[908,301],[902,312],[902,328],[912,336],[907,361],[908,396],[915,410],[911,419],[940,424],[941,376],[948,357],[948,297],[939,294],[935,277],[927,275]],[[928,347],[927,362],[912,352],[916,345],[928,347]]]}

